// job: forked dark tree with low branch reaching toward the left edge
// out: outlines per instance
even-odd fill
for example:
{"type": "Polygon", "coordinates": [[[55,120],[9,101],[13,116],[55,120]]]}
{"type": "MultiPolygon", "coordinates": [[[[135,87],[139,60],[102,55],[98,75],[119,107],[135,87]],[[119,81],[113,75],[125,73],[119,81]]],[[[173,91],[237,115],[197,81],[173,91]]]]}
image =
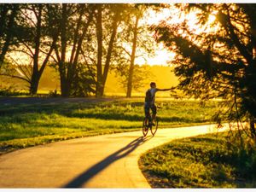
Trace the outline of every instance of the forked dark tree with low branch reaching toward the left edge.
{"type": "Polygon", "coordinates": [[[40,78],[57,40],[57,32],[49,32],[49,27],[52,27],[49,18],[49,9],[45,4],[20,5],[19,27],[15,28],[18,44],[9,50],[9,58],[15,63],[15,68],[11,67],[13,70],[5,75],[25,80],[32,95],[38,92],[40,78]],[[17,61],[17,55],[11,55],[14,52],[26,57],[26,61],[17,61]]]}

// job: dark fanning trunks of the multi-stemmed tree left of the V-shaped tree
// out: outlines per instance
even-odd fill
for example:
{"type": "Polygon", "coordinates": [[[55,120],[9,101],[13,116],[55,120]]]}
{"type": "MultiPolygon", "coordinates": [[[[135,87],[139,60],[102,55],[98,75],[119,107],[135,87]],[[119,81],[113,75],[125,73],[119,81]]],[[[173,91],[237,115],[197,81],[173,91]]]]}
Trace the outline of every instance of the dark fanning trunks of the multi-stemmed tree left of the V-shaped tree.
{"type": "MultiPolygon", "coordinates": [[[[57,65],[59,67],[60,79],[61,79],[61,96],[71,96],[73,94],[73,83],[74,83],[74,76],[77,70],[77,63],[79,62],[79,54],[82,50],[83,40],[85,38],[86,32],[90,26],[90,22],[93,20],[93,15],[95,11],[94,5],[91,6],[90,15],[86,23],[83,21],[83,16],[87,9],[84,9],[84,4],[79,5],[76,24],[73,27],[73,33],[67,28],[67,23],[69,22],[70,15],[70,8],[67,8],[67,4],[62,4],[61,10],[61,46],[60,49],[55,48],[55,55],[57,58],[57,65]],[[81,33],[82,32],[82,33],[81,33]],[[69,35],[73,35],[72,49],[70,52],[70,58],[66,57],[68,52],[67,50],[67,37],[69,35]],[[68,61],[67,61],[68,60],[68,61]]],[[[100,6],[100,5],[99,5],[100,6]]]]}

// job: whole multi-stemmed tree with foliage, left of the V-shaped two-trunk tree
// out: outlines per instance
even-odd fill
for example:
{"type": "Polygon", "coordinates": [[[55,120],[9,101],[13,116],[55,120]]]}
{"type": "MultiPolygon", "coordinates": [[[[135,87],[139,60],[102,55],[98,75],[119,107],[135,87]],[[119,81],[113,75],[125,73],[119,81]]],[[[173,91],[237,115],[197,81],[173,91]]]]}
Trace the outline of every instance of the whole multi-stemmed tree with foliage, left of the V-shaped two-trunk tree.
{"type": "Polygon", "coordinates": [[[71,96],[74,77],[79,75],[79,56],[93,20],[95,4],[55,4],[60,39],[55,47],[55,63],[61,79],[61,96],[71,96]],[[70,54],[69,54],[70,53],[70,54]]]}

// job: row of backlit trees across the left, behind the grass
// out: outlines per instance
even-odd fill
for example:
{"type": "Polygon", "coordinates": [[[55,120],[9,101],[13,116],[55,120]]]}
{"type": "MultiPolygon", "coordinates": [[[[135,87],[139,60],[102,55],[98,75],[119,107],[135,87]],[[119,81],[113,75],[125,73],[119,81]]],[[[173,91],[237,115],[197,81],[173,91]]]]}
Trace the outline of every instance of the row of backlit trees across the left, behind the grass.
{"type": "Polygon", "coordinates": [[[31,95],[46,65],[55,67],[61,96],[104,95],[110,69],[125,78],[126,96],[143,79],[137,50],[154,53],[142,22],[159,5],[128,3],[0,4],[0,72],[28,84],[31,95]],[[133,84],[134,80],[137,82],[133,84]]]}

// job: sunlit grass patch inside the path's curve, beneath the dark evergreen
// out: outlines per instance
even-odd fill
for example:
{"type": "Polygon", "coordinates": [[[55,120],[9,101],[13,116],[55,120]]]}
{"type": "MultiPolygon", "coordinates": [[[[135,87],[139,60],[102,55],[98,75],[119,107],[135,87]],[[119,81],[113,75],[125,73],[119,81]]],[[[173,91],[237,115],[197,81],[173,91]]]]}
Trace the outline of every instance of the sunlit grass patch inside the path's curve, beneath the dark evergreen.
{"type": "Polygon", "coordinates": [[[175,140],[139,160],[153,188],[255,188],[256,150],[227,143],[227,133],[175,140]]]}

